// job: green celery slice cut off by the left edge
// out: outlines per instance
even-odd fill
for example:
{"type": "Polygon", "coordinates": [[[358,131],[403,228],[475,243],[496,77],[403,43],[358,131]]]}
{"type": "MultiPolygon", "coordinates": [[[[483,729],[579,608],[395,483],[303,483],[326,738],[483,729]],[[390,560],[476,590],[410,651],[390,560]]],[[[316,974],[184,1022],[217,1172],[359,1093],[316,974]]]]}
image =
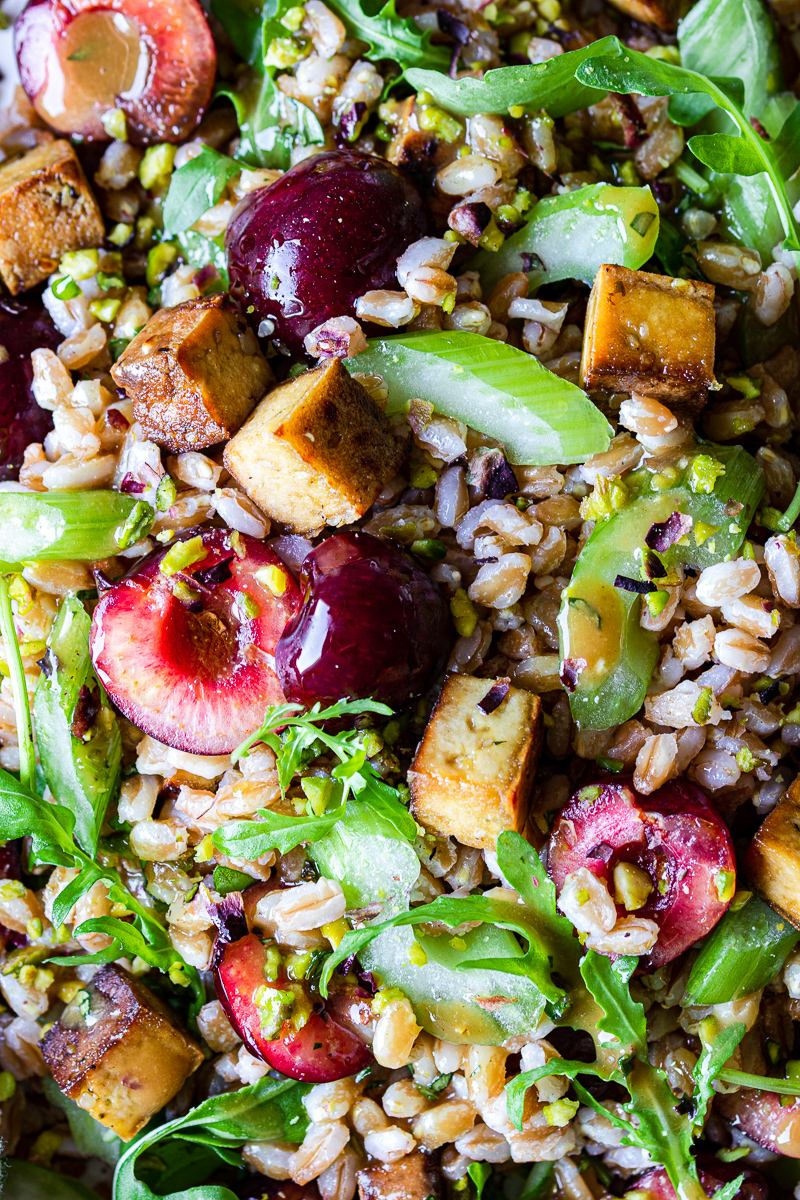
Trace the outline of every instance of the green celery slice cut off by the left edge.
{"type": "Polygon", "coordinates": [[[0,492],[0,570],[26,562],[97,562],[132,546],[155,510],[120,492],[0,492]]]}

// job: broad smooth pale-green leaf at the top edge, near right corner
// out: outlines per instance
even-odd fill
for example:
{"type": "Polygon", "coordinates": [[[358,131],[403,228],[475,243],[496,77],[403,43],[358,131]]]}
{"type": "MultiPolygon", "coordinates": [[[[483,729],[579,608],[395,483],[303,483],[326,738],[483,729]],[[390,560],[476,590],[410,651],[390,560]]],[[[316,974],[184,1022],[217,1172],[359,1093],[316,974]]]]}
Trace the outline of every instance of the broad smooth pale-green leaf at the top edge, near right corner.
{"type": "Polygon", "coordinates": [[[700,0],[678,26],[678,46],[690,71],[741,79],[747,116],[760,116],[782,86],[775,23],[760,0],[700,0]]]}

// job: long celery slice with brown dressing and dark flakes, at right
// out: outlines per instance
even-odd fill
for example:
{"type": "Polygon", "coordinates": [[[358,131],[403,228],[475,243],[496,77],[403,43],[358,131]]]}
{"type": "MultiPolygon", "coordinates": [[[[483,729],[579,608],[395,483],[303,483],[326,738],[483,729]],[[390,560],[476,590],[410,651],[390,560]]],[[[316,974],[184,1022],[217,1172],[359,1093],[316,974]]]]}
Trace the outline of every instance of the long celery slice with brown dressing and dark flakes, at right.
{"type": "Polygon", "coordinates": [[[726,562],[745,539],[764,491],[760,467],[741,446],[706,443],[687,456],[687,474],[698,455],[712,455],[724,466],[712,492],[686,485],[655,491],[650,473],[642,469],[630,480],[638,496],[599,522],[578,554],[558,624],[561,661],[587,664],[570,694],[572,716],[583,730],[607,730],[633,716],[658,660],[656,635],[639,624],[642,596],[614,587],[618,575],[642,580],[650,527],[673,512],[692,517],[690,533],[658,554],[668,571],[680,564],[699,572],[726,562]],[[742,505],[738,512],[735,504],[742,505]]]}

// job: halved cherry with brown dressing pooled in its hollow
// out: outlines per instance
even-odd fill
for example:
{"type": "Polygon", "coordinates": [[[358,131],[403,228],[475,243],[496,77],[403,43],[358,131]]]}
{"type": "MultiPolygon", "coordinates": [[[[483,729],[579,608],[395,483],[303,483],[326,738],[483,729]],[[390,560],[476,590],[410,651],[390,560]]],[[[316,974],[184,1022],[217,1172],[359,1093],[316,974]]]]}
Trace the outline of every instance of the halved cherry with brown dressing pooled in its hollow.
{"type": "Polygon", "coordinates": [[[14,49],[23,88],[54,130],[108,142],[103,116],[120,109],[139,145],[188,137],[217,61],[198,0],[29,0],[14,49]]]}

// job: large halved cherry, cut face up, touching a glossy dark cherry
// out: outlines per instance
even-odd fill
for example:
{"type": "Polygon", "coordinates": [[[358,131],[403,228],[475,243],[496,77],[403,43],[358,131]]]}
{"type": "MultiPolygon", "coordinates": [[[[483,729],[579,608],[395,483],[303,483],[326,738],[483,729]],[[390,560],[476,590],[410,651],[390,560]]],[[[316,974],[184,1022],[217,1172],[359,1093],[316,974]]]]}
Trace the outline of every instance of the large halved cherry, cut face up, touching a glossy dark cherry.
{"type": "Polygon", "coordinates": [[[188,530],[103,595],[91,624],[95,670],[120,712],[158,742],[229,754],[267,706],[283,703],[275,647],[299,604],[297,584],[263,542],[188,530]]]}

